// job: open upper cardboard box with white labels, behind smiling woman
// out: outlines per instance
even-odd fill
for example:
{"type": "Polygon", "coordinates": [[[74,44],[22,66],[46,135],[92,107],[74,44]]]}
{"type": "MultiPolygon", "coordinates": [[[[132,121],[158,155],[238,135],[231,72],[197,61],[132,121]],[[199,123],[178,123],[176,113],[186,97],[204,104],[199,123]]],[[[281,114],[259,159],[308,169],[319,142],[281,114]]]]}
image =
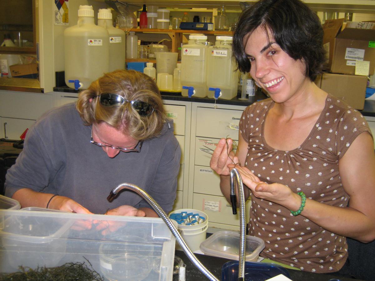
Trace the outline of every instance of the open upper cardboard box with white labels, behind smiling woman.
{"type": "MultiPolygon", "coordinates": [[[[356,60],[369,61],[369,73],[375,70],[375,30],[344,28],[344,19],[331,19],[324,22],[323,43],[329,50],[330,72],[356,74],[356,60]]],[[[363,75],[363,74],[362,74],[363,75]]]]}

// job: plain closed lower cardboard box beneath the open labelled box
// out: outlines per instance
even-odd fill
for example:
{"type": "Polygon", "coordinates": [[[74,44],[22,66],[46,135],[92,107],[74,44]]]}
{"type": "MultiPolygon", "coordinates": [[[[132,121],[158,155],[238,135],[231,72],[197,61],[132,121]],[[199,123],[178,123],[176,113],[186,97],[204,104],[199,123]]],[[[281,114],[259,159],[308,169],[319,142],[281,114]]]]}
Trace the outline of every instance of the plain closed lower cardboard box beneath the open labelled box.
{"type": "Polygon", "coordinates": [[[365,105],[367,76],[324,73],[320,88],[362,110],[365,105]]]}

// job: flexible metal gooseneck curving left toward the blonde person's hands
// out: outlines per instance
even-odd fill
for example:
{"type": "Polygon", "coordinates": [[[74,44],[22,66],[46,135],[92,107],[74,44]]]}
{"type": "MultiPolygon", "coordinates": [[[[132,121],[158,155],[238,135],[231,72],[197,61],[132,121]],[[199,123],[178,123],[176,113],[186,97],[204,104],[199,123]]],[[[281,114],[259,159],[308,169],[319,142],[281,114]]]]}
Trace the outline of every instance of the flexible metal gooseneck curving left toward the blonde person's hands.
{"type": "Polygon", "coordinates": [[[107,197],[109,202],[112,202],[113,199],[118,195],[118,191],[122,190],[123,188],[130,189],[138,193],[143,199],[147,201],[148,204],[152,206],[152,208],[157,212],[160,218],[163,219],[165,224],[169,227],[174,237],[177,239],[178,244],[180,244],[182,250],[185,252],[186,256],[191,260],[191,262],[211,281],[219,281],[207,268],[196,258],[193,252],[190,250],[189,246],[187,246],[186,242],[172,223],[172,221],[168,218],[168,215],[164,212],[164,210],[160,207],[160,205],[144,190],[139,188],[134,184],[123,183],[115,187],[110,195],[107,197]]]}

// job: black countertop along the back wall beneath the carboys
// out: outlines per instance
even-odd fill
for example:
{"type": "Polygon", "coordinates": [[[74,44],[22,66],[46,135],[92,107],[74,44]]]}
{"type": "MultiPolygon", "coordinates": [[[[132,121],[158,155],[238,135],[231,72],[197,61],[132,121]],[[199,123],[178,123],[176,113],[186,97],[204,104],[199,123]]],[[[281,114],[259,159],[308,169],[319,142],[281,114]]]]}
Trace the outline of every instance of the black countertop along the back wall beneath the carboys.
{"type": "MultiPolygon", "coordinates": [[[[64,92],[64,93],[79,93],[80,91],[74,90],[69,88],[68,86],[65,87],[54,87],[53,90],[55,92],[64,92]]],[[[176,100],[176,101],[183,101],[183,102],[202,102],[202,103],[211,103],[214,104],[214,99],[209,99],[208,97],[183,97],[181,93],[171,93],[171,92],[160,92],[162,95],[163,100],[176,100]]],[[[252,103],[256,102],[257,100],[266,99],[267,96],[262,91],[257,91],[254,97],[251,97],[247,100],[240,100],[237,97],[231,100],[223,100],[218,99],[216,103],[219,105],[239,105],[239,106],[248,106],[252,103]]],[[[375,117],[375,100],[365,100],[365,107],[363,110],[360,110],[363,116],[372,116],[375,117]]]]}

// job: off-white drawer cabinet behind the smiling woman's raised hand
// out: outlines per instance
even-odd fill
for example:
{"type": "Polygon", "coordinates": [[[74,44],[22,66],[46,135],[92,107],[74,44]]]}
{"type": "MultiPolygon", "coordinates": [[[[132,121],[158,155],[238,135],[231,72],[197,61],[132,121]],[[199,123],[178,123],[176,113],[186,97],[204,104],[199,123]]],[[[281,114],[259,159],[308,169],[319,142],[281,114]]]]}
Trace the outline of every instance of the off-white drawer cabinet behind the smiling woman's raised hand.
{"type": "MultiPolygon", "coordinates": [[[[210,168],[211,154],[220,138],[238,140],[239,121],[244,106],[193,103],[190,137],[189,205],[208,215],[208,226],[239,230],[239,212],[233,215],[231,205],[220,191],[220,176],[210,168]]],[[[228,185],[229,188],[229,185],[228,185]]],[[[248,219],[251,201],[246,202],[248,219]]]]}

